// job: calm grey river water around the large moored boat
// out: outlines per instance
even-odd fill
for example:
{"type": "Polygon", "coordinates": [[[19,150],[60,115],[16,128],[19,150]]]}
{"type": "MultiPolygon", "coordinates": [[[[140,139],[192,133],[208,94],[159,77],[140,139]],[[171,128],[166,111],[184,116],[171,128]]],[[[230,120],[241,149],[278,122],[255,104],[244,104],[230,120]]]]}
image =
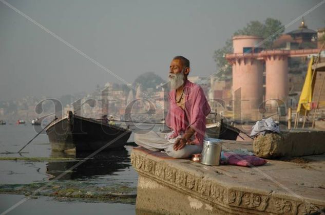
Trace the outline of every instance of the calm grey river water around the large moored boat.
{"type": "MultiPolygon", "coordinates": [[[[0,154],[0,186],[2,188],[0,189],[2,190],[0,194],[0,213],[26,198],[22,193],[5,192],[5,188],[9,187],[11,191],[16,189],[19,192],[26,190],[25,195],[29,196],[34,195],[34,190],[40,188],[40,186],[42,186],[43,190],[44,187],[46,189],[50,187],[47,192],[44,192],[49,196],[36,195],[35,198],[28,198],[27,201],[19,204],[8,214],[136,213],[135,196],[138,174],[130,164],[130,152],[133,146],[127,145],[124,150],[99,153],[69,171],[66,170],[80,162],[87,154],[67,155],[54,153],[51,150],[46,134],[39,135],[24,148],[23,152],[27,153],[21,155],[4,154],[6,152],[17,152],[36,134],[34,127],[29,124],[0,125],[0,152],[2,153],[0,154]],[[22,160],[10,160],[12,157],[22,160]],[[40,158],[40,160],[33,160],[36,158],[40,158]],[[43,158],[50,159],[42,160],[43,158]],[[56,158],[71,160],[55,160],[56,158]],[[63,176],[59,180],[54,179],[61,174],[63,176]],[[34,190],[33,187],[35,187],[34,190]],[[81,190],[83,193],[87,191],[90,196],[95,195],[98,190],[104,190],[101,191],[102,194],[105,193],[105,190],[110,193],[126,192],[131,193],[131,197],[126,198],[126,200],[123,198],[92,198],[89,200],[52,196],[52,193],[56,195],[60,194],[61,191],[63,192],[63,190],[70,189],[70,196],[67,194],[69,197],[73,196],[76,190],[81,190]],[[120,189],[124,190],[121,191],[120,189]]],[[[133,141],[133,134],[129,141],[133,141]]],[[[78,192],[74,196],[78,196],[78,192]]]]}

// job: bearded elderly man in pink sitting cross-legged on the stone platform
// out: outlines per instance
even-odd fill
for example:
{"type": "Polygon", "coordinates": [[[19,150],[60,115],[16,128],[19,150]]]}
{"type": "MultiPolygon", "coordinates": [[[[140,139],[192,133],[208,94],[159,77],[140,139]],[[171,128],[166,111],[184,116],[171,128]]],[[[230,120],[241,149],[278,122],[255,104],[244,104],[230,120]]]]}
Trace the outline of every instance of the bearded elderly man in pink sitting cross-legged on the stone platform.
{"type": "Polygon", "coordinates": [[[149,150],[165,150],[174,158],[187,158],[201,153],[205,133],[205,117],[211,111],[202,88],[187,80],[189,60],[176,56],[169,66],[169,110],[166,125],[172,132],[162,136],[150,131],[136,134],[135,142],[149,150]]]}

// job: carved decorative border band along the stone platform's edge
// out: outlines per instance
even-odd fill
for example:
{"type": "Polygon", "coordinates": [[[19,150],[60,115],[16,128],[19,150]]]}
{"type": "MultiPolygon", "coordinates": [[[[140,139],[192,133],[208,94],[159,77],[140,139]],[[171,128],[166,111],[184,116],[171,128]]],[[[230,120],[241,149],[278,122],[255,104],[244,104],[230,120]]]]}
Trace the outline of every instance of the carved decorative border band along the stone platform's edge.
{"type": "MultiPolygon", "coordinates": [[[[208,180],[198,176],[186,168],[170,166],[164,160],[151,159],[142,153],[133,150],[131,164],[138,173],[149,180],[167,186],[184,195],[192,196],[209,205],[224,207],[231,211],[243,210],[256,211],[258,213],[275,214],[304,214],[315,212],[323,206],[312,203],[299,202],[295,198],[278,198],[276,195],[248,192],[245,187],[234,189],[226,187],[218,181],[208,180]]],[[[139,189],[139,188],[138,188],[139,189]]]]}

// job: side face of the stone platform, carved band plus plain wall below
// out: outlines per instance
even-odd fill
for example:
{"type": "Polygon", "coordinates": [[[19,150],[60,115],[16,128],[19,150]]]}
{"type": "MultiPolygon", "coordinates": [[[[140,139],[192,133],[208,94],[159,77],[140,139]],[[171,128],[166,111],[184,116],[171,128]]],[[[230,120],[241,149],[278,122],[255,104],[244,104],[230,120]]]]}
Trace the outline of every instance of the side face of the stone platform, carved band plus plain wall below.
{"type": "MultiPolygon", "coordinates": [[[[184,164],[192,162],[181,161],[184,164]]],[[[236,186],[231,178],[229,183],[219,181],[214,177],[218,172],[204,174],[182,168],[181,161],[165,161],[132,151],[131,164],[139,173],[138,211],[163,214],[305,214],[325,207],[324,201],[312,203],[267,189],[236,186]],[[174,166],[173,161],[178,165],[174,166]]]]}

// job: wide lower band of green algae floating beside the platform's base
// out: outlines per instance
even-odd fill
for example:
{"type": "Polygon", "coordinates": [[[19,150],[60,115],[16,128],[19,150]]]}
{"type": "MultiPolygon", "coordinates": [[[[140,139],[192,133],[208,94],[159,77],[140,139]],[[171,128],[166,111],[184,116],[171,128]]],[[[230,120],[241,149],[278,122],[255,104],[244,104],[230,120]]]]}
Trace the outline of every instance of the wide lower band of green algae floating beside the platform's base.
{"type": "Polygon", "coordinates": [[[31,184],[0,185],[1,194],[25,196],[48,196],[59,200],[78,200],[85,202],[116,202],[135,204],[137,188],[122,184],[99,187],[96,183],[80,181],[52,181],[31,184]]]}

